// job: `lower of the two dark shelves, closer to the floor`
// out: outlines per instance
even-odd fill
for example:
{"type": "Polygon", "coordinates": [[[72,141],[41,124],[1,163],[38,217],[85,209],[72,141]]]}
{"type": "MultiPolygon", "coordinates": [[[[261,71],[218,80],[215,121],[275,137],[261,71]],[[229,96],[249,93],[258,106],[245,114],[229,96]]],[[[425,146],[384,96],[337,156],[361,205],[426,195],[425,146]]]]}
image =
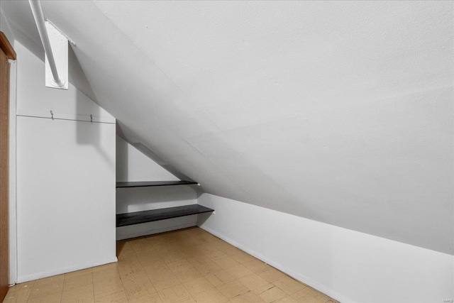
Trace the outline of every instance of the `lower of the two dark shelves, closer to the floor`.
{"type": "Polygon", "coordinates": [[[153,209],[150,211],[135,211],[127,214],[116,215],[116,227],[140,224],[145,222],[160,221],[165,219],[189,216],[192,214],[203,214],[214,211],[199,204],[169,207],[167,209],[153,209]]]}

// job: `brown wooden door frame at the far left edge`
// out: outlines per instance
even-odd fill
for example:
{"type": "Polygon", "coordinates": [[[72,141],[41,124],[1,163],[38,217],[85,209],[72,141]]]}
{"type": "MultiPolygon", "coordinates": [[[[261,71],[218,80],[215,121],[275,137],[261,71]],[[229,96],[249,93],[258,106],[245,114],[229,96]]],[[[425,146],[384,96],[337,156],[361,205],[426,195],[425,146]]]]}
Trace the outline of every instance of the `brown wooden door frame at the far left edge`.
{"type": "MultiPolygon", "coordinates": [[[[1,162],[1,171],[0,171],[0,187],[1,187],[1,199],[0,199],[0,209],[1,209],[1,220],[0,220],[0,258],[1,258],[1,268],[0,268],[0,301],[6,296],[8,292],[9,285],[9,104],[10,104],[10,64],[9,60],[16,60],[16,52],[13,49],[11,43],[9,43],[8,38],[0,31],[0,50],[1,57],[6,58],[6,77],[1,79],[1,87],[6,87],[4,92],[6,92],[5,99],[1,99],[0,104],[0,124],[1,124],[1,153],[0,153],[0,162],[1,162]],[[3,55],[4,54],[4,55],[3,55]]],[[[4,59],[5,60],[5,59],[4,59]]],[[[5,62],[1,62],[2,65],[5,62]]],[[[3,67],[2,67],[3,68],[3,67]]],[[[4,72],[4,70],[3,70],[4,72]]],[[[3,74],[2,72],[2,74],[3,74]]]]}

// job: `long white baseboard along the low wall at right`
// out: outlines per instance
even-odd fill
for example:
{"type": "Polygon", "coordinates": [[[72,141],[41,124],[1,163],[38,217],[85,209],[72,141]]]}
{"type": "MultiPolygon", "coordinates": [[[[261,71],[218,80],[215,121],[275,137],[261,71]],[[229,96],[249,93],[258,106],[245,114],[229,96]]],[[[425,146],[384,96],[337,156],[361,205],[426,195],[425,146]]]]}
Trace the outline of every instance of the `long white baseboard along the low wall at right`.
{"type": "Polygon", "coordinates": [[[262,260],[263,262],[271,265],[273,268],[277,268],[278,270],[286,273],[290,277],[293,277],[295,280],[303,282],[304,284],[309,285],[310,287],[313,287],[314,289],[318,290],[319,292],[323,292],[323,294],[326,294],[327,296],[329,296],[333,299],[336,299],[339,302],[356,303],[356,302],[353,302],[351,299],[344,297],[342,294],[339,294],[338,292],[332,290],[331,288],[326,287],[326,285],[322,285],[318,282],[315,282],[314,280],[309,279],[309,277],[301,275],[299,272],[295,272],[294,270],[285,268],[284,266],[280,265],[279,263],[276,263],[275,261],[270,260],[269,258],[266,258],[264,255],[261,255],[260,253],[257,253],[255,250],[251,250],[245,246],[242,246],[240,243],[233,241],[231,238],[221,235],[221,233],[218,233],[209,227],[206,227],[206,226],[199,226],[199,227],[204,229],[205,231],[208,231],[209,233],[213,234],[214,236],[221,238],[223,241],[226,241],[227,243],[235,246],[236,248],[243,250],[245,253],[253,255],[255,258],[262,260]]]}

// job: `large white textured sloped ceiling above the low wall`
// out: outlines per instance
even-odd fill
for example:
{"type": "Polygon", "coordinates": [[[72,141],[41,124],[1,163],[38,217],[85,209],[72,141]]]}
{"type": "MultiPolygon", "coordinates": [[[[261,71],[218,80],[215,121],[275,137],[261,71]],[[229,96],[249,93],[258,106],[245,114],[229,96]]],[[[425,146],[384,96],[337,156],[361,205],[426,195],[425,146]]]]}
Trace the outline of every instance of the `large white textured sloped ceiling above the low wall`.
{"type": "Polygon", "coordinates": [[[452,2],[42,4],[74,84],[205,192],[454,253],[452,2]]]}

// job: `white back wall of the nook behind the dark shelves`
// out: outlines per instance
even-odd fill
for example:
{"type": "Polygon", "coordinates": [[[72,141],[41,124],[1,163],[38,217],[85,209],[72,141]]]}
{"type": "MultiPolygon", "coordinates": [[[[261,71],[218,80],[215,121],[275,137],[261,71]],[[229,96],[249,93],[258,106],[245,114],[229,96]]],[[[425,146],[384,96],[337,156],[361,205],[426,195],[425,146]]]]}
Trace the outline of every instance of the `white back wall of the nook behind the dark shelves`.
{"type": "MultiPolygon", "coordinates": [[[[116,180],[133,181],[175,181],[175,175],[165,170],[154,160],[121,137],[116,137],[116,180]]],[[[162,187],[129,187],[116,189],[116,213],[163,209],[197,203],[194,185],[162,187]]],[[[196,225],[196,216],[185,216],[157,222],[135,224],[116,228],[117,240],[145,236],[153,233],[172,231],[196,225]]]]}

